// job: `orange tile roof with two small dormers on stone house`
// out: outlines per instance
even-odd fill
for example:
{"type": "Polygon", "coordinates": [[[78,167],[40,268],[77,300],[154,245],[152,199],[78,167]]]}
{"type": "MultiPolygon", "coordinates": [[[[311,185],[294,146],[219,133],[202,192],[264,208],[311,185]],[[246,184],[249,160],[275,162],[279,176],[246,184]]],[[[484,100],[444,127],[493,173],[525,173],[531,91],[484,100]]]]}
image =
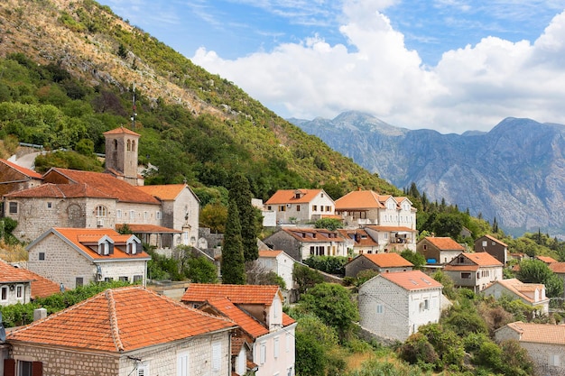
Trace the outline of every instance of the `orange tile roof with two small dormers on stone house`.
{"type": "Polygon", "coordinates": [[[125,241],[133,235],[118,234],[111,228],[63,228],[53,227],[49,231],[42,234],[39,238],[35,239],[28,249],[35,246],[35,244],[42,242],[42,239],[49,234],[59,236],[63,241],[71,244],[77,251],[85,254],[89,259],[96,260],[149,260],[151,256],[146,252],[138,252],[135,254],[128,254],[125,252],[125,241]],[[114,253],[108,255],[98,254],[84,243],[96,243],[105,235],[112,239],[114,244],[114,253]]]}

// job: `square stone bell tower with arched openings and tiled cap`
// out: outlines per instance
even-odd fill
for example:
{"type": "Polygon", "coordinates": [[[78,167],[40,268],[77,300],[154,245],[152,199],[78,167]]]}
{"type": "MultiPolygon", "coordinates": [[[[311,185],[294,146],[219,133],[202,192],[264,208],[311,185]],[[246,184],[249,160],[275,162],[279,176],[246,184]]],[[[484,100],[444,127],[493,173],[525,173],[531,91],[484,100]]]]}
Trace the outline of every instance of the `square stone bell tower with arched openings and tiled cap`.
{"type": "Polygon", "coordinates": [[[104,137],[107,172],[133,186],[143,185],[143,179],[140,180],[137,174],[137,149],[141,135],[121,126],[105,132],[104,137]]]}

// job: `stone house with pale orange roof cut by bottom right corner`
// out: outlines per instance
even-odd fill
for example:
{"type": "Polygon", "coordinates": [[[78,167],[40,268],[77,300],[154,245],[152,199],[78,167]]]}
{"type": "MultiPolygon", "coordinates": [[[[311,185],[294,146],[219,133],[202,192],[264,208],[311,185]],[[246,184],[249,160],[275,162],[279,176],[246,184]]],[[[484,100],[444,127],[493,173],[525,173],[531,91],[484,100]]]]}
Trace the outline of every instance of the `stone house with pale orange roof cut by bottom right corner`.
{"type": "Polygon", "coordinates": [[[565,374],[565,326],[516,321],[497,329],[495,339],[518,341],[532,358],[536,374],[565,374]]]}

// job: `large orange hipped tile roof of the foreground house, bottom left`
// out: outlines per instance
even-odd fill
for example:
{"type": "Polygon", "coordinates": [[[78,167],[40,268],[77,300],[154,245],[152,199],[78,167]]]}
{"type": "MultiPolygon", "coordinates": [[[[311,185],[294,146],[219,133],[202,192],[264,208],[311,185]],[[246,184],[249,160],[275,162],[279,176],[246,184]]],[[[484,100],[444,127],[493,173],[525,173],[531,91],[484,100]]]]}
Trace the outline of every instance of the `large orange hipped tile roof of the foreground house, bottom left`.
{"type": "Polygon", "coordinates": [[[234,327],[230,320],[136,286],[107,289],[15,329],[7,341],[122,353],[234,327]]]}

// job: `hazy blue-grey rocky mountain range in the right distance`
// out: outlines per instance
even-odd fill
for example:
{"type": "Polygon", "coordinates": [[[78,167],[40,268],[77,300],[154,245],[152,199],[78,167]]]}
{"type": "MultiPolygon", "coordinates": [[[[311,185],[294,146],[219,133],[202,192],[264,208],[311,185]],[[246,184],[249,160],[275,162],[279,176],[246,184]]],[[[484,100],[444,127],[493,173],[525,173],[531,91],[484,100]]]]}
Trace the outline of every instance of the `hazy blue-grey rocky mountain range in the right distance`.
{"type": "Polygon", "coordinates": [[[414,182],[508,234],[565,234],[565,125],[508,117],[488,133],[441,134],[359,112],[289,121],[394,186],[414,182]]]}

